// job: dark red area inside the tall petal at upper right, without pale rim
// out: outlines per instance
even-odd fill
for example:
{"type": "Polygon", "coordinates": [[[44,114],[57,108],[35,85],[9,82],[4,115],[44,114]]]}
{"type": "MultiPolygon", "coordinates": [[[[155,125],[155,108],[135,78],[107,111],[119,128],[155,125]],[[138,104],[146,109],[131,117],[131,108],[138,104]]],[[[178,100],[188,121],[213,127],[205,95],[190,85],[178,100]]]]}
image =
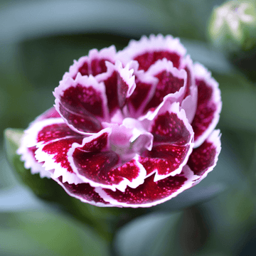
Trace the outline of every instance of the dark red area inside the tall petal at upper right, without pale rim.
{"type": "Polygon", "coordinates": [[[191,124],[195,132],[195,140],[208,129],[217,109],[215,102],[211,100],[213,89],[203,80],[196,80],[196,85],[198,85],[198,107],[191,124]]]}

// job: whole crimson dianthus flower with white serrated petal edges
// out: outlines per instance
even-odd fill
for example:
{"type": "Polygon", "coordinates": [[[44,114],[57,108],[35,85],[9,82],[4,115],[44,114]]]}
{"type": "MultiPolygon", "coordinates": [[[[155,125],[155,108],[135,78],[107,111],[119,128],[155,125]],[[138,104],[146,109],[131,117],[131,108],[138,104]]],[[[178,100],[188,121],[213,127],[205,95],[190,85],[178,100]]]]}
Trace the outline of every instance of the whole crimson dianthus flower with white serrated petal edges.
{"type": "Polygon", "coordinates": [[[53,92],[18,154],[95,206],[150,207],[195,186],[220,153],[218,82],[178,38],[90,50],[53,92]]]}

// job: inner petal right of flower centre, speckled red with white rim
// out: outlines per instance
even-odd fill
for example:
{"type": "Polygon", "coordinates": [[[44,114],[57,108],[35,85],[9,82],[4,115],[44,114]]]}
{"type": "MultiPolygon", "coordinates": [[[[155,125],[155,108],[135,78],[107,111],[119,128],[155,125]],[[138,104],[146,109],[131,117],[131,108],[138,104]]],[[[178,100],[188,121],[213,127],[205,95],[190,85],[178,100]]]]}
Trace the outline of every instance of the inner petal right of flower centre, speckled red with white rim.
{"type": "Polygon", "coordinates": [[[180,174],[193,149],[193,129],[185,111],[179,110],[178,102],[171,104],[165,100],[142,122],[154,135],[153,148],[139,160],[146,169],[146,175],[156,173],[154,181],[159,181],[180,174]]]}

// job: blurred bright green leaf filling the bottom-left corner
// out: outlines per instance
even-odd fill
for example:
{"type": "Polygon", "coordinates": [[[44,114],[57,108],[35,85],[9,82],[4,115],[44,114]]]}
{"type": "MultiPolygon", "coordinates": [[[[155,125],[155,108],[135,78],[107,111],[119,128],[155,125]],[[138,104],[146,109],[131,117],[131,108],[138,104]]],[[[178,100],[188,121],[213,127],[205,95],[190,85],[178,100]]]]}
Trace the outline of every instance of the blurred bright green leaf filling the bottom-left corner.
{"type": "Polygon", "coordinates": [[[110,255],[93,230],[59,213],[1,213],[0,226],[1,255],[110,255]]]}

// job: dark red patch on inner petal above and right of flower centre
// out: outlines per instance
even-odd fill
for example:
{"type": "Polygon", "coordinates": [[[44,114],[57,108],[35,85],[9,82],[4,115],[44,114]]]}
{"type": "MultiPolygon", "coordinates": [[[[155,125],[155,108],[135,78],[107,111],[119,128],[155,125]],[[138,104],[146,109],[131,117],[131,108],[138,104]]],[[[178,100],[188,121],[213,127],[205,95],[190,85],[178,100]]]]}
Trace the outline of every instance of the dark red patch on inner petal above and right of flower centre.
{"type": "Polygon", "coordinates": [[[154,96],[146,105],[146,110],[149,110],[151,107],[157,107],[164,100],[164,96],[178,92],[184,85],[183,79],[176,78],[166,71],[155,75],[155,77],[159,79],[159,83],[156,85],[154,96]]]}

